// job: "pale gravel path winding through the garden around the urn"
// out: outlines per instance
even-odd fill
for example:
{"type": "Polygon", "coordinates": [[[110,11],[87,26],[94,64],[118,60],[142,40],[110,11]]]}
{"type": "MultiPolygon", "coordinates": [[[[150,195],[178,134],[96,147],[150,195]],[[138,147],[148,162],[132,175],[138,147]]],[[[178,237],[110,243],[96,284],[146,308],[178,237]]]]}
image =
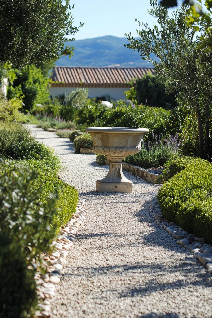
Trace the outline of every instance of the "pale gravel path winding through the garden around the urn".
{"type": "Polygon", "coordinates": [[[133,194],[96,193],[107,168],[72,142],[30,125],[64,163],[61,178],[85,198],[87,216],[63,269],[52,318],[209,318],[212,277],[154,223],[159,185],[127,173],[133,194]]]}

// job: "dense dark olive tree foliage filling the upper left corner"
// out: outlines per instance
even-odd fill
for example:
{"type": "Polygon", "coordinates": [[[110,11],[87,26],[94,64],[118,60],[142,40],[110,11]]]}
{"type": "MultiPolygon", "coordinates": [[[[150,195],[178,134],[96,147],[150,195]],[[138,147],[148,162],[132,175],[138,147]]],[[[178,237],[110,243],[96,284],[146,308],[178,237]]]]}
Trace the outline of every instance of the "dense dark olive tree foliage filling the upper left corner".
{"type": "Polygon", "coordinates": [[[0,64],[21,68],[59,56],[83,25],[73,25],[73,8],[69,0],[0,0],[0,64]]]}

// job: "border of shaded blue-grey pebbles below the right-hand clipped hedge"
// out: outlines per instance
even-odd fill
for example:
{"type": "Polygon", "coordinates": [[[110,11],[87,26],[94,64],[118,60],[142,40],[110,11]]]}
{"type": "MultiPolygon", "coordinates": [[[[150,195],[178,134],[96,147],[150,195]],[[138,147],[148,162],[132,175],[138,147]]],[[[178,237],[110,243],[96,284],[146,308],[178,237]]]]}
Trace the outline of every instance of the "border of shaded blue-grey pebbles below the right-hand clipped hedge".
{"type": "Polygon", "coordinates": [[[150,212],[153,213],[155,223],[161,225],[174,239],[177,240],[177,244],[184,246],[190,250],[196,259],[198,259],[207,271],[212,274],[212,246],[204,243],[203,238],[198,238],[194,234],[188,234],[180,226],[174,222],[168,222],[165,219],[161,206],[158,200],[155,198],[152,201],[152,208],[150,212]]]}

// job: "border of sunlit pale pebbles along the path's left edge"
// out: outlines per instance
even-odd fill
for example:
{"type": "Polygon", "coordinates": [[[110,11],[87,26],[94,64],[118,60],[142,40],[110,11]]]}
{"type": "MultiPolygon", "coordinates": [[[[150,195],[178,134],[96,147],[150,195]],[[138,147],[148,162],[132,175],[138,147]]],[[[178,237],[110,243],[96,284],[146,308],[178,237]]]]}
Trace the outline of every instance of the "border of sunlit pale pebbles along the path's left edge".
{"type": "Polygon", "coordinates": [[[39,297],[39,307],[41,310],[36,312],[36,317],[50,317],[51,303],[55,297],[57,284],[60,282],[60,271],[62,270],[68,251],[71,249],[74,241],[74,234],[77,233],[79,226],[85,219],[85,200],[79,200],[76,213],[72,215],[71,220],[61,229],[57,240],[52,242],[55,251],[51,255],[44,254],[46,273],[36,273],[37,294],[39,297]]]}

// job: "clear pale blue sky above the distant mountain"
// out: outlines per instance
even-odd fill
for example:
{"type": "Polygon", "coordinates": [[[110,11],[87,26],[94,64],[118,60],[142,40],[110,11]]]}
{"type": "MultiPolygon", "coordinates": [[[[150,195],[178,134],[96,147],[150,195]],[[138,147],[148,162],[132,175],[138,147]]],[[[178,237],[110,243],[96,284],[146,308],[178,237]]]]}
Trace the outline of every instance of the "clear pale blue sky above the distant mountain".
{"type": "Polygon", "coordinates": [[[148,8],[149,0],[78,0],[72,11],[74,25],[78,26],[79,22],[84,22],[85,25],[75,38],[79,40],[104,35],[124,37],[129,32],[136,36],[139,26],[134,18],[149,25],[156,22],[147,13],[148,8]]]}

